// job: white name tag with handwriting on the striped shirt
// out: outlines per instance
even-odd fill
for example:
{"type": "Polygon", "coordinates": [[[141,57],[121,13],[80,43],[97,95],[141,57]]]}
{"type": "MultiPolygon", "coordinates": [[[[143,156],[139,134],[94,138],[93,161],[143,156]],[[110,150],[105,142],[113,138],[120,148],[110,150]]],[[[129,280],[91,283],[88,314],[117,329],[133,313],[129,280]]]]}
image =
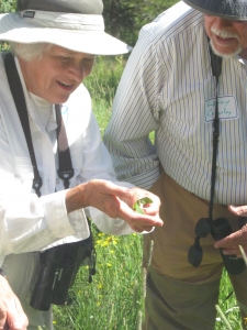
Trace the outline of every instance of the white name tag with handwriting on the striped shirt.
{"type": "MultiPolygon", "coordinates": [[[[234,96],[217,98],[218,118],[231,120],[238,118],[237,101],[234,96]]],[[[215,98],[205,101],[205,121],[213,121],[215,114],[215,98]]]]}

